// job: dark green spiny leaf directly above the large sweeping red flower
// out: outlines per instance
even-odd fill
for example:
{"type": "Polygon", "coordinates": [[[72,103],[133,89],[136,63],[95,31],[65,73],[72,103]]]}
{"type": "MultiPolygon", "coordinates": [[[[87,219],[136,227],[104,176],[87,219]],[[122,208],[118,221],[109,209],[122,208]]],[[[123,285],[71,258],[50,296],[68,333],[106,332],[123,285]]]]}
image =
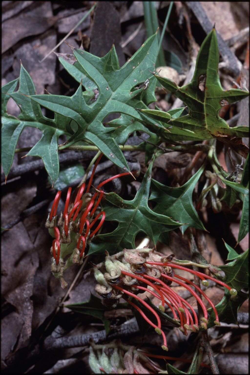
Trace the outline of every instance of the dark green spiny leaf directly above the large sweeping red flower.
{"type": "Polygon", "coordinates": [[[135,248],[135,236],[143,232],[156,244],[157,240],[168,243],[168,231],[178,228],[177,223],[170,217],[153,212],[148,206],[149,188],[153,162],[150,163],[141,185],[132,201],[126,201],[115,193],[106,195],[101,202],[106,213],[105,221],[118,222],[118,227],[112,232],[95,237],[98,241],[89,244],[88,254],[109,254],[135,248]],[[101,242],[101,243],[100,243],[101,242]]]}

